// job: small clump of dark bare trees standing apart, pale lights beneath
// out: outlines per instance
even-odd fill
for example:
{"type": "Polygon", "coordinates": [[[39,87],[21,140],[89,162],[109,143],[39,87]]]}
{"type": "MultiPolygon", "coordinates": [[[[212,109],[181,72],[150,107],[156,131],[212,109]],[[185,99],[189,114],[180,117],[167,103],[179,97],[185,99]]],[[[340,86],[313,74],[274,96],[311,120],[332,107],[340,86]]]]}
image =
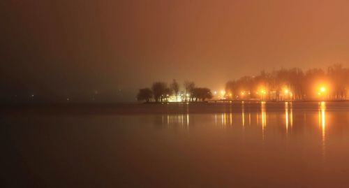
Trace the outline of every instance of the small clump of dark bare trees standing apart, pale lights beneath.
{"type": "Polygon", "coordinates": [[[167,82],[154,82],[151,87],[142,88],[137,94],[138,101],[156,103],[168,102],[171,96],[179,101],[205,101],[211,99],[213,95],[207,87],[195,87],[192,81],[186,81],[183,84],[184,91],[180,92],[179,83],[173,80],[170,85],[167,82]]]}

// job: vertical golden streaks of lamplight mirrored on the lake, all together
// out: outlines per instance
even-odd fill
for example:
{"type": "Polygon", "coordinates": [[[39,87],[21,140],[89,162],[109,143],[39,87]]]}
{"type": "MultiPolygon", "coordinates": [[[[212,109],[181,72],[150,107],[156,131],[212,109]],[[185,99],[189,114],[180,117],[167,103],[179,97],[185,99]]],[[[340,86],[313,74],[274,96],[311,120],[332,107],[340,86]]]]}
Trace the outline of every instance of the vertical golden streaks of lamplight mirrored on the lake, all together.
{"type": "MultiPolygon", "coordinates": [[[[302,126],[302,124],[305,126],[306,124],[313,123],[317,124],[317,121],[315,119],[315,122],[306,122],[306,115],[304,115],[304,112],[300,112],[299,110],[294,109],[294,103],[292,102],[285,102],[285,103],[279,103],[279,107],[283,109],[283,113],[279,115],[279,113],[275,113],[273,111],[268,111],[267,116],[267,108],[269,109],[270,103],[261,102],[258,104],[259,110],[253,111],[251,110],[251,106],[249,106],[248,103],[241,103],[237,106],[230,103],[228,106],[225,107],[225,113],[216,113],[216,114],[209,114],[205,115],[205,121],[199,123],[198,120],[195,119],[195,114],[189,114],[190,109],[189,106],[186,106],[186,113],[184,114],[177,114],[177,115],[161,115],[161,119],[157,120],[158,125],[161,124],[161,126],[166,126],[168,128],[170,127],[181,127],[183,129],[189,129],[189,126],[193,126],[195,122],[198,124],[214,124],[220,128],[229,128],[233,125],[242,127],[241,130],[243,131],[251,131],[255,128],[253,128],[253,125],[258,125],[259,134],[262,134],[262,140],[263,143],[266,139],[266,136],[269,134],[273,134],[273,131],[277,129],[277,127],[281,127],[283,130],[283,133],[285,133],[285,136],[287,138],[290,138],[292,131],[294,129],[294,117],[293,114],[296,113],[297,120],[297,126],[295,128],[296,131],[299,132],[299,126],[302,126]],[[297,115],[298,113],[298,115],[297,115]],[[303,120],[299,120],[301,118],[299,114],[302,115],[303,120]],[[254,119],[255,117],[256,119],[254,119]],[[194,121],[191,120],[191,118],[194,117],[194,121]],[[281,118],[282,122],[277,122],[281,118]],[[196,120],[196,121],[195,121],[196,120]],[[267,123],[270,126],[270,128],[266,129],[267,123]],[[246,129],[248,126],[252,126],[252,129],[246,129]],[[261,132],[260,132],[261,129],[261,132]]],[[[297,103],[296,103],[297,105],[297,103]]],[[[315,107],[315,106],[314,106],[315,107]]],[[[318,125],[320,129],[320,137],[321,137],[321,148],[322,148],[322,157],[325,157],[325,149],[326,149],[326,103],[321,102],[318,103],[318,125]]],[[[258,109],[258,108],[257,108],[258,109]]],[[[309,112],[308,114],[311,114],[313,112],[309,112]]],[[[316,112],[313,113],[316,118],[316,112]]],[[[257,126],[255,126],[257,127],[257,126]]],[[[310,126],[308,126],[310,127],[310,126]]],[[[308,129],[308,128],[306,128],[308,129]]],[[[238,129],[235,129],[238,130],[238,129]]],[[[315,133],[315,132],[313,132],[315,133]]]]}

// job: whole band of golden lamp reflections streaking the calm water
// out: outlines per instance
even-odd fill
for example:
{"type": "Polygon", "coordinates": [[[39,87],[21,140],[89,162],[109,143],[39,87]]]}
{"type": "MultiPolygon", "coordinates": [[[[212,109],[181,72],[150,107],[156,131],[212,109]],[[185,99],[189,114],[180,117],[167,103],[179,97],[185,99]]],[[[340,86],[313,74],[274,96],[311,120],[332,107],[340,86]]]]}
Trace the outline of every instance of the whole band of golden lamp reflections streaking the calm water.
{"type": "MultiPolygon", "coordinates": [[[[230,129],[232,127],[242,127],[242,132],[245,131],[245,129],[250,129],[251,127],[253,130],[260,127],[260,136],[262,138],[261,143],[265,144],[265,139],[268,136],[268,133],[274,134],[272,130],[279,129],[278,127],[281,125],[284,125],[284,132],[285,134],[283,137],[288,139],[289,136],[292,136],[299,133],[299,131],[308,129],[304,126],[308,126],[309,124],[313,124],[313,121],[309,122],[309,120],[306,120],[306,117],[313,116],[312,111],[297,111],[297,132],[293,132],[294,129],[294,109],[293,109],[293,103],[292,102],[285,102],[284,103],[284,114],[281,115],[279,112],[268,112],[266,107],[266,102],[260,103],[260,112],[255,113],[253,111],[247,110],[245,103],[242,102],[240,104],[232,104],[230,103],[228,106],[227,113],[214,113],[214,114],[207,114],[207,115],[192,115],[189,113],[189,106],[186,107],[186,114],[181,115],[162,115],[161,118],[167,119],[167,127],[173,128],[173,126],[180,125],[183,129],[189,129],[190,126],[193,126],[193,124],[196,124],[196,122],[204,121],[205,124],[210,124],[210,122],[213,122],[211,125],[214,125],[216,128],[220,129],[230,129]],[[241,108],[241,112],[233,112],[232,106],[239,106],[241,108]],[[200,117],[205,116],[205,120],[200,120],[200,117]],[[282,117],[283,116],[283,117],[282,117]],[[253,117],[255,118],[255,122],[252,121],[253,117]],[[195,119],[195,122],[191,122],[191,118],[195,119]],[[279,118],[283,119],[283,122],[279,122],[279,118]],[[247,122],[247,124],[246,124],[247,122]],[[193,123],[193,124],[191,124],[193,123]],[[270,124],[270,127],[268,127],[270,124]],[[248,127],[246,127],[248,126],[248,127]],[[302,128],[302,129],[301,129],[302,128]],[[267,129],[270,129],[269,132],[267,129]]],[[[334,112],[333,112],[334,113],[334,112]]],[[[348,113],[349,112],[345,112],[348,113]]],[[[318,125],[320,128],[320,137],[321,137],[321,156],[322,159],[325,160],[326,155],[326,103],[320,102],[318,103],[318,125]]],[[[164,122],[163,122],[164,123],[164,122]]],[[[178,128],[178,127],[177,127],[178,128]]]]}

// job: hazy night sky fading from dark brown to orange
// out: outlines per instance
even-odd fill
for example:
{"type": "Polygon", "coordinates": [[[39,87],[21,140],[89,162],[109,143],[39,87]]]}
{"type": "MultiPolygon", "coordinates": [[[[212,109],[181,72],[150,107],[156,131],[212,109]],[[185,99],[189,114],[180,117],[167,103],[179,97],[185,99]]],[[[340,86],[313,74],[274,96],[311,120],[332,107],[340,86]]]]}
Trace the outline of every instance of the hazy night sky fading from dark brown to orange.
{"type": "Polygon", "coordinates": [[[1,1],[8,96],[134,101],[163,80],[349,66],[349,1],[1,1]],[[50,97],[49,97],[50,96],[50,97]]]}

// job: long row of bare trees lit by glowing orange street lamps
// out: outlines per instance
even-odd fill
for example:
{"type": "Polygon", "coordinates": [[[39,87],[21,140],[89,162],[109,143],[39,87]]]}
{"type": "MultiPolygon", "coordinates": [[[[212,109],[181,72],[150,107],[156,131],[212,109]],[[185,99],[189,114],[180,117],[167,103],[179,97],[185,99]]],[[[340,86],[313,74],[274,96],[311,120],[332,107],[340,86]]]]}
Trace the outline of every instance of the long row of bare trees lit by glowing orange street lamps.
{"type": "Polygon", "coordinates": [[[327,70],[322,68],[311,68],[302,71],[301,68],[281,68],[277,71],[261,71],[255,76],[244,76],[237,80],[228,81],[225,91],[230,98],[259,98],[261,91],[265,98],[271,98],[290,92],[290,97],[295,100],[314,99],[322,97],[325,99],[341,100],[347,99],[349,89],[349,68],[341,64],[329,66],[327,70]]]}

